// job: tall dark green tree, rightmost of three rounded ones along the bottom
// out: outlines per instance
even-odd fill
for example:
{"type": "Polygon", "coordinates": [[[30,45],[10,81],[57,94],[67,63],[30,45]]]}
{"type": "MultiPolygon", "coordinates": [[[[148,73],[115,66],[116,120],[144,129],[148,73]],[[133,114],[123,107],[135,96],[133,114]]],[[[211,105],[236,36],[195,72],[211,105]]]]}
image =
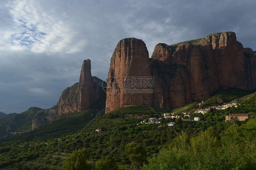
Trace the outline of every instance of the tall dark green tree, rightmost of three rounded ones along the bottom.
{"type": "Polygon", "coordinates": [[[146,149],[136,143],[129,143],[125,146],[125,152],[129,156],[129,160],[132,162],[133,169],[141,168],[143,163],[147,161],[146,149]]]}

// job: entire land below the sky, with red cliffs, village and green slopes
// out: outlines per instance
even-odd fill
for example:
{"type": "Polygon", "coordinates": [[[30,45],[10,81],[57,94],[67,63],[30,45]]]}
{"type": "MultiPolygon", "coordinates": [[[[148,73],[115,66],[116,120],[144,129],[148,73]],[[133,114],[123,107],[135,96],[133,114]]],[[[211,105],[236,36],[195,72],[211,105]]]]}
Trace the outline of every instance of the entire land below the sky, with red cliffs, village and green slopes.
{"type": "Polygon", "coordinates": [[[234,32],[122,39],[107,82],[84,60],[53,107],[1,113],[0,169],[255,169],[255,63],[234,32]]]}

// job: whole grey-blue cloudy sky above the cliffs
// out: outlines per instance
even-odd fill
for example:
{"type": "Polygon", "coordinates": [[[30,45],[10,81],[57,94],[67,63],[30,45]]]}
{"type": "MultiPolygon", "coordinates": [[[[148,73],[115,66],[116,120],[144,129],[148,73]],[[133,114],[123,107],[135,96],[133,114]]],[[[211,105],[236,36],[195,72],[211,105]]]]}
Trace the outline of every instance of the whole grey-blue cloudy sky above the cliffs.
{"type": "Polygon", "coordinates": [[[0,111],[55,105],[86,59],[92,76],[105,79],[124,38],[142,39],[151,56],[158,43],[233,31],[256,50],[255,7],[255,0],[0,0],[0,111]]]}

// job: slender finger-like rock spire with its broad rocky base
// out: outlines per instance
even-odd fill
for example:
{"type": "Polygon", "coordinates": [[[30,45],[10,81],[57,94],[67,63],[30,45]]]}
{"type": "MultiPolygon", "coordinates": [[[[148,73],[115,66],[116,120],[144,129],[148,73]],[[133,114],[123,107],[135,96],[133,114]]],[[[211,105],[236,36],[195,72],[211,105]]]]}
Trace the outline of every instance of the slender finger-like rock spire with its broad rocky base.
{"type": "Polygon", "coordinates": [[[84,60],[79,82],[66,88],[58,102],[58,115],[81,112],[99,99],[99,83],[91,76],[91,61],[84,60]]]}

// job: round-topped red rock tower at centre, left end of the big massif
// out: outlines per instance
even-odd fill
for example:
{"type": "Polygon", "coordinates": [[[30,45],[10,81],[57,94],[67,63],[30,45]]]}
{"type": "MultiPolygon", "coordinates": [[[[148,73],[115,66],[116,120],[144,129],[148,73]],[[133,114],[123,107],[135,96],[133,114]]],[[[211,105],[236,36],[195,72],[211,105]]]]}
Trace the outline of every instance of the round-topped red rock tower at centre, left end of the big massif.
{"type": "MultiPolygon", "coordinates": [[[[145,105],[146,103],[152,105],[152,93],[125,92],[126,88],[131,86],[123,85],[122,81],[127,82],[130,77],[134,76],[152,77],[149,53],[146,44],[142,40],[135,38],[122,39],[118,42],[110,60],[106,113],[127,105],[145,105]]],[[[149,88],[149,86],[146,88],[149,88]]],[[[143,89],[143,87],[139,86],[136,89],[143,89]]]]}

